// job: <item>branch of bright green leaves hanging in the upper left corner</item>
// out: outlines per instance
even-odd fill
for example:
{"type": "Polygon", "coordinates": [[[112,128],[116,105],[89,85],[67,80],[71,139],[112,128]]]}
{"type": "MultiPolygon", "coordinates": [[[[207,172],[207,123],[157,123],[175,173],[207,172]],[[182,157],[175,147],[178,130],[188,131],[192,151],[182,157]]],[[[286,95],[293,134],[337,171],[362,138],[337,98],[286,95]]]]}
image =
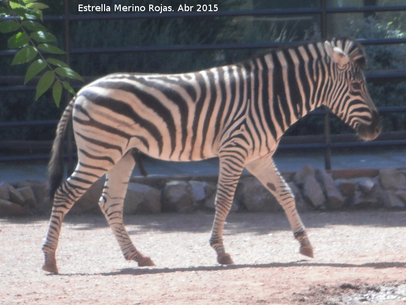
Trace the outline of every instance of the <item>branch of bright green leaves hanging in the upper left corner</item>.
{"type": "Polygon", "coordinates": [[[39,21],[43,19],[43,9],[48,6],[38,0],[7,0],[0,7],[0,16],[9,18],[0,23],[0,32],[14,33],[8,39],[8,47],[16,49],[11,66],[31,63],[25,74],[24,84],[36,75],[46,71],[40,77],[36,86],[37,101],[52,86],[52,97],[57,106],[62,96],[62,87],[75,94],[69,82],[65,79],[79,79],[82,77],[67,65],[55,64],[52,56],[65,54],[52,43],[56,37],[49,33],[39,21]],[[15,33],[16,32],[16,33],[15,33]],[[32,62],[33,59],[36,59],[32,62]]]}

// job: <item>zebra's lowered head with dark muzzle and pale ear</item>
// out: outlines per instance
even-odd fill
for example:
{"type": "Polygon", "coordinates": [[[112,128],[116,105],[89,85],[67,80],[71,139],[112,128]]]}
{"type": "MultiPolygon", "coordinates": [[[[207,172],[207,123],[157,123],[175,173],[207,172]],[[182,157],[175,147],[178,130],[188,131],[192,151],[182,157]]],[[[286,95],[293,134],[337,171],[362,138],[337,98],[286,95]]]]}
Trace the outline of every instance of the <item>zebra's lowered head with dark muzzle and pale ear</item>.
{"type": "Polygon", "coordinates": [[[365,52],[352,39],[326,41],[330,57],[333,90],[327,107],[351,126],[363,140],[375,139],[382,129],[378,110],[369,96],[362,68],[366,65],[365,52]]]}

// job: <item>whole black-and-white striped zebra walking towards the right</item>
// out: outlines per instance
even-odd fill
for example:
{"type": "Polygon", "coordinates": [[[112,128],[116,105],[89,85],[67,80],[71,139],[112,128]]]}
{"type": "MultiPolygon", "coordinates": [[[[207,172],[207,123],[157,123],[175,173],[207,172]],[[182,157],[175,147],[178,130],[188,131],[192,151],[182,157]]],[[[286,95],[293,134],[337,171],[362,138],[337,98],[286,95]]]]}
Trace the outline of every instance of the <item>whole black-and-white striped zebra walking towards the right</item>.
{"type": "Polygon", "coordinates": [[[351,38],[281,48],[243,62],[182,74],[115,73],[84,86],[65,108],[49,161],[53,207],[43,244],[43,269],[58,273],[55,252],[62,221],[75,201],[106,174],[99,206],[127,260],[153,266],[134,247],[123,224],[123,200],[134,149],[167,161],[219,158],[210,245],[219,264],[232,264],[223,228],[244,168],[283,207],[299,252],[313,247],[294,195],[273,161],[285,131],[320,106],[363,140],[380,133],[381,120],[362,68],[366,55],[351,38]],[[66,125],[73,121],[78,163],[62,183],[66,125]]]}

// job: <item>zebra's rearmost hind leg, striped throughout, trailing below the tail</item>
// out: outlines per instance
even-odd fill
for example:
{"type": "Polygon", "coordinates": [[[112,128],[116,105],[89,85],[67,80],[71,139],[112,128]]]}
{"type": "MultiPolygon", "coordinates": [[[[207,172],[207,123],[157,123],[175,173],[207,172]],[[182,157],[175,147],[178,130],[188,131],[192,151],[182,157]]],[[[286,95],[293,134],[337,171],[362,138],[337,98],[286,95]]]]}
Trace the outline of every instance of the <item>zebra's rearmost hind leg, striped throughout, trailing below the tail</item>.
{"type": "Polygon", "coordinates": [[[63,219],[76,200],[105,172],[103,168],[88,167],[79,162],[73,174],[56,190],[48,232],[42,246],[45,256],[43,270],[58,273],[55,252],[63,219]]]}

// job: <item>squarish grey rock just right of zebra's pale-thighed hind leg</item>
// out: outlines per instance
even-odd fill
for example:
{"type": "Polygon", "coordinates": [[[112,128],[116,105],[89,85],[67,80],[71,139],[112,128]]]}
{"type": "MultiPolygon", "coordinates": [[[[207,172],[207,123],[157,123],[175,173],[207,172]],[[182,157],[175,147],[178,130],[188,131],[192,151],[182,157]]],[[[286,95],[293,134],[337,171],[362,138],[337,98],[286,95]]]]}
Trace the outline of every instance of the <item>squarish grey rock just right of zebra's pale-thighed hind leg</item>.
{"type": "Polygon", "coordinates": [[[150,186],[130,182],[124,199],[124,214],[161,212],[161,192],[150,186]]]}

